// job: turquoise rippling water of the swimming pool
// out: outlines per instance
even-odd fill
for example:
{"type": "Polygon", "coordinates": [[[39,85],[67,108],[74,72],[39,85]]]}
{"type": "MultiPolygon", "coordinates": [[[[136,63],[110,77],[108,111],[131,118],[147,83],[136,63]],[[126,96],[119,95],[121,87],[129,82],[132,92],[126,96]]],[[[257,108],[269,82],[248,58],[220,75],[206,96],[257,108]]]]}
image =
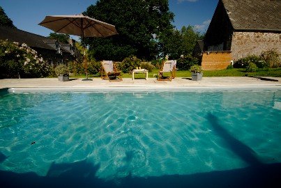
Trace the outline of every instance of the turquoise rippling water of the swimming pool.
{"type": "Polygon", "coordinates": [[[120,181],[281,162],[280,90],[2,92],[0,104],[2,173],[120,181]]]}

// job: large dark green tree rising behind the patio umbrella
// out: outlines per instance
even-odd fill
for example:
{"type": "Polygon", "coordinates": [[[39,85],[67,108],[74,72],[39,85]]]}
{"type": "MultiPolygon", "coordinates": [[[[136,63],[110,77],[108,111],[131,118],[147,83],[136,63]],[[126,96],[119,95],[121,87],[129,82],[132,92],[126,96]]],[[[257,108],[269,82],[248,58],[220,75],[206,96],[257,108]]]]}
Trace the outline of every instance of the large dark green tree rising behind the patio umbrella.
{"type": "Polygon", "coordinates": [[[84,14],[115,25],[119,33],[109,38],[85,38],[97,60],[121,61],[130,55],[153,58],[158,53],[154,36],[171,29],[174,19],[168,0],[100,0],[84,14]]]}

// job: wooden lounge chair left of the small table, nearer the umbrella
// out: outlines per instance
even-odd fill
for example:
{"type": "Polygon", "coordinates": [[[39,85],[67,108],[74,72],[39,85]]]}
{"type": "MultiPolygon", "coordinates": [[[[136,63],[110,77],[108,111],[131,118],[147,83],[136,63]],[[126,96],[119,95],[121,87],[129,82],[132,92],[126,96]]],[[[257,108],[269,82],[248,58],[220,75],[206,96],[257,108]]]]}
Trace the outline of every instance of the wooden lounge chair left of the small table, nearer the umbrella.
{"type": "Polygon", "coordinates": [[[108,79],[109,81],[122,81],[121,71],[118,71],[116,68],[114,68],[112,61],[102,61],[101,64],[101,79],[108,79]],[[105,75],[103,75],[103,72],[105,72],[105,75]]]}

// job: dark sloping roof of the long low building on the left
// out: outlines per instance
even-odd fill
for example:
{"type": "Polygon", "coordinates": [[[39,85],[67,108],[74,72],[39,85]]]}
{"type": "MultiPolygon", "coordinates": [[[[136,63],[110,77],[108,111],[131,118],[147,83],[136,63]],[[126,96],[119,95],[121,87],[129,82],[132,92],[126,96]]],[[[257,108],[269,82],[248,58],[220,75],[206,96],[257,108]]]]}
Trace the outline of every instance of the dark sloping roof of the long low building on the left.
{"type": "Polygon", "coordinates": [[[19,42],[20,44],[25,43],[29,47],[56,50],[44,42],[44,40],[50,40],[49,38],[22,31],[20,29],[10,28],[8,26],[0,26],[0,40],[7,39],[10,42],[19,42]]]}

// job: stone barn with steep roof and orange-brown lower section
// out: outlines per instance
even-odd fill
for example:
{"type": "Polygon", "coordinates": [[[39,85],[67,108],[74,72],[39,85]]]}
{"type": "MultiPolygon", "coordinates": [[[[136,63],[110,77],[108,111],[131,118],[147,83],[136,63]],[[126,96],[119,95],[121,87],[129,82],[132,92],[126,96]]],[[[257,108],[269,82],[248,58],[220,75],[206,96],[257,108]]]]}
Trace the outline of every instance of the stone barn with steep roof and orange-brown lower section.
{"type": "Polygon", "coordinates": [[[281,53],[281,1],[219,0],[204,39],[205,70],[269,49],[281,53]]]}

